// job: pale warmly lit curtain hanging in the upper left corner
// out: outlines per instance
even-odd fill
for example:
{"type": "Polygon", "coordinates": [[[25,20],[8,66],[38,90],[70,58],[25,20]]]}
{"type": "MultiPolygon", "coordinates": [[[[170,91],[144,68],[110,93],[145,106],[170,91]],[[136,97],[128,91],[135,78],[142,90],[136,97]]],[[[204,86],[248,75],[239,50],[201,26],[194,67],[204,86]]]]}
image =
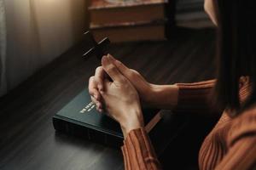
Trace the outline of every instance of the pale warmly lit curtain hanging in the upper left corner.
{"type": "Polygon", "coordinates": [[[4,2],[8,12],[6,84],[7,89],[12,89],[79,41],[86,31],[85,2],[88,0],[4,2]]]}

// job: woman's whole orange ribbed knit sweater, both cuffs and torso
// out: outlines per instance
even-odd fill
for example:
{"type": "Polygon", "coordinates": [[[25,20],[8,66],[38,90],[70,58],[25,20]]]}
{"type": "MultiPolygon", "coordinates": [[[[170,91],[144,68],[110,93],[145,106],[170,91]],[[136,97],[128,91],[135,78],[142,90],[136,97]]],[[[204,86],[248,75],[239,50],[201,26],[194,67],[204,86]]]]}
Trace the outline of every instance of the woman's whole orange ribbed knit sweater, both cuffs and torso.
{"type": "MultiPolygon", "coordinates": [[[[177,112],[212,111],[207,105],[215,81],[179,83],[177,112]]],[[[248,82],[241,82],[240,98],[248,96],[248,82]]],[[[247,170],[256,168],[256,106],[231,117],[224,111],[212,132],[201,145],[199,167],[202,170],[247,170]]],[[[158,170],[158,161],[148,134],[143,128],[128,133],[122,146],[126,170],[158,170]]]]}

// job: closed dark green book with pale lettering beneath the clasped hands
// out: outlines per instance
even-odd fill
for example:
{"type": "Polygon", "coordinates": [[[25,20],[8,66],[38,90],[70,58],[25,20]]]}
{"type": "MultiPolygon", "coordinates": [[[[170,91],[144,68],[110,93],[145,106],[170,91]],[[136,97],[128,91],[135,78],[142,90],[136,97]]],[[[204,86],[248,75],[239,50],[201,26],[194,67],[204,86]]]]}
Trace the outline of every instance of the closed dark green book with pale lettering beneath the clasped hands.
{"type": "MultiPolygon", "coordinates": [[[[148,132],[161,119],[157,110],[143,110],[143,115],[148,132]]],[[[53,125],[57,131],[114,147],[119,147],[124,139],[119,123],[97,112],[85,89],[55,114],[53,125]]]]}

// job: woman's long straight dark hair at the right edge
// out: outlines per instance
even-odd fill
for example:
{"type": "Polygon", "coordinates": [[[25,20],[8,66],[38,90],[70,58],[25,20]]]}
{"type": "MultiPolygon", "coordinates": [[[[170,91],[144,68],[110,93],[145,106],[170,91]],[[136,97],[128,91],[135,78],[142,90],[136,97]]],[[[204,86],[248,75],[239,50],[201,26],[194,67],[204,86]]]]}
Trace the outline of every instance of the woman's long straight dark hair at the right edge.
{"type": "Polygon", "coordinates": [[[256,6],[255,0],[217,0],[218,77],[217,102],[221,108],[247,109],[256,103],[256,6]],[[248,76],[251,94],[239,101],[239,80],[248,76]]]}

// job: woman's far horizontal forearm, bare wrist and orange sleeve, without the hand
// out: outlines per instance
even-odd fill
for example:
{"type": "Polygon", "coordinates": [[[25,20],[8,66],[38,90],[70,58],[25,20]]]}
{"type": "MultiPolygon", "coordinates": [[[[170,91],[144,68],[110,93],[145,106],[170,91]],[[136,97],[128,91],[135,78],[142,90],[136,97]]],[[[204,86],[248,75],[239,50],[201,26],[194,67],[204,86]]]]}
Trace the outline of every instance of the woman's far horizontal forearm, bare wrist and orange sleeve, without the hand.
{"type": "Polygon", "coordinates": [[[209,97],[215,80],[177,83],[174,85],[151,85],[151,97],[147,104],[159,109],[179,112],[202,112],[211,110],[209,97]]]}

